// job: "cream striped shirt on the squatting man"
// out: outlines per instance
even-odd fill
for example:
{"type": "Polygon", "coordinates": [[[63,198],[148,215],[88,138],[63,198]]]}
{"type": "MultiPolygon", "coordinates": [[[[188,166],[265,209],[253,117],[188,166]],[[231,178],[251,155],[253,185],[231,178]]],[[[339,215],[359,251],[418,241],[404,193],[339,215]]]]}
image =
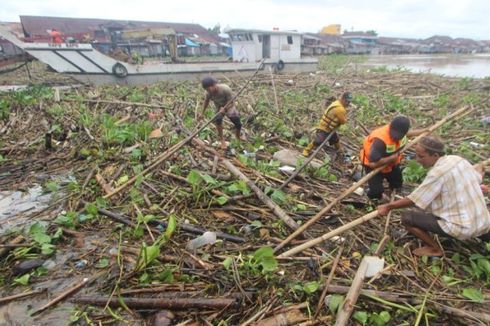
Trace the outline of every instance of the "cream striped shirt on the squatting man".
{"type": "Polygon", "coordinates": [[[408,198],[441,219],[439,226],[457,239],[475,238],[490,230],[490,213],[480,188],[481,175],[456,155],[439,158],[408,198]]]}

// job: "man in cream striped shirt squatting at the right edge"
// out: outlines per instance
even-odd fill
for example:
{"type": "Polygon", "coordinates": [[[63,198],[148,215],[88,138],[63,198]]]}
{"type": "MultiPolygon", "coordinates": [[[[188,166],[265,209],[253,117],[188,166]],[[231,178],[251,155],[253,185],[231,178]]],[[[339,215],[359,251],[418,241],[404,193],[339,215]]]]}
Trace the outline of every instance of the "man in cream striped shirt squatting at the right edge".
{"type": "Polygon", "coordinates": [[[477,238],[490,240],[490,213],[480,183],[483,166],[474,168],[456,155],[444,155],[444,144],[433,137],[424,137],[415,149],[416,160],[431,168],[417,189],[407,197],[378,206],[380,215],[390,210],[417,206],[423,211],[407,211],[402,224],[408,232],[427,246],[413,251],[417,256],[444,254],[427,232],[459,240],[477,238]]]}

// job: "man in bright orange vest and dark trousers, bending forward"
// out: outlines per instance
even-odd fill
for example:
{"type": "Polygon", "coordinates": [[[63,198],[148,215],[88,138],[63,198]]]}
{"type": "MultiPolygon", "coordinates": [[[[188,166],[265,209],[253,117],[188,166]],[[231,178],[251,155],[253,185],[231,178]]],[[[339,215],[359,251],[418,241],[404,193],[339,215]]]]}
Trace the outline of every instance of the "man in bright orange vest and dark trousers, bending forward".
{"type": "Polygon", "coordinates": [[[387,199],[384,195],[383,180],[386,179],[390,189],[402,187],[403,178],[400,169],[402,156],[400,151],[407,144],[407,136],[420,135],[425,129],[410,130],[410,120],[405,116],[397,116],[378,129],[375,129],[364,139],[360,159],[366,173],[385,165],[374,177],[369,179],[368,197],[371,199],[387,199]]]}

